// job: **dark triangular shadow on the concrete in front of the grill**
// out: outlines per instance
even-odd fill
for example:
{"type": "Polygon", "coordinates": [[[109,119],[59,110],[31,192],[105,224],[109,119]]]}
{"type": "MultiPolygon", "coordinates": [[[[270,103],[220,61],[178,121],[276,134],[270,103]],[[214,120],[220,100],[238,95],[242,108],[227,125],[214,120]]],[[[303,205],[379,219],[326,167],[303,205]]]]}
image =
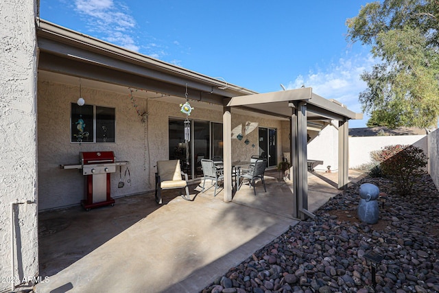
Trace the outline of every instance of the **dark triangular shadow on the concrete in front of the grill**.
{"type": "MultiPolygon", "coordinates": [[[[52,276],[119,233],[147,218],[180,196],[176,189],[162,191],[163,204],[157,204],[154,191],[117,198],[114,207],[85,211],[80,205],[38,215],[40,276],[52,276]]],[[[195,195],[192,193],[194,200],[195,195]]]]}

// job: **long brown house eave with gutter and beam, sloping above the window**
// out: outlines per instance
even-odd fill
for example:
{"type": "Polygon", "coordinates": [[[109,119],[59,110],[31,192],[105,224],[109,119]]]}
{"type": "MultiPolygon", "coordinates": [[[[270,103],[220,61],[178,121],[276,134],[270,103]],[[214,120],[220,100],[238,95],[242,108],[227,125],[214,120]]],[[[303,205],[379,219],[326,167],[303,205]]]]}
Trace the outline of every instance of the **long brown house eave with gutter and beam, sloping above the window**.
{"type": "Polygon", "coordinates": [[[38,71],[60,82],[78,84],[82,78],[92,88],[100,82],[112,89],[132,87],[167,97],[185,97],[187,92],[189,99],[217,105],[223,105],[224,98],[256,93],[44,19],[36,19],[36,28],[38,71]]]}

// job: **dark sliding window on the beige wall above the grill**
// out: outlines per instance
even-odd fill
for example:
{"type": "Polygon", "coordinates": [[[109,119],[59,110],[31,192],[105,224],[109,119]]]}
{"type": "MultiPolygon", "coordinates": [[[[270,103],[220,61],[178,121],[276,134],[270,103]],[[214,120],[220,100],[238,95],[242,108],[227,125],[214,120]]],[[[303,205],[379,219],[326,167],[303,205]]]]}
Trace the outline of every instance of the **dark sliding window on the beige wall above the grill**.
{"type": "Polygon", "coordinates": [[[72,143],[114,143],[115,108],[71,103],[72,143]]]}

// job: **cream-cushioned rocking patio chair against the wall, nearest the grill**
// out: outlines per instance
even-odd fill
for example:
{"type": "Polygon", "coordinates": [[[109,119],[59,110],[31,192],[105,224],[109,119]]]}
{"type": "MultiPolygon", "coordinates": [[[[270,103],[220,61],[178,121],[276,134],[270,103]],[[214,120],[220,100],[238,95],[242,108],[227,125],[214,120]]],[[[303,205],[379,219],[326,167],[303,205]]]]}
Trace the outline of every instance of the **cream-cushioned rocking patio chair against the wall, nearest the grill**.
{"type": "Polygon", "coordinates": [[[157,161],[156,172],[156,202],[162,203],[161,191],[164,189],[182,189],[186,191],[185,200],[191,200],[187,186],[187,174],[181,171],[180,160],[157,161]],[[185,176],[183,180],[182,176],[185,176]]]}

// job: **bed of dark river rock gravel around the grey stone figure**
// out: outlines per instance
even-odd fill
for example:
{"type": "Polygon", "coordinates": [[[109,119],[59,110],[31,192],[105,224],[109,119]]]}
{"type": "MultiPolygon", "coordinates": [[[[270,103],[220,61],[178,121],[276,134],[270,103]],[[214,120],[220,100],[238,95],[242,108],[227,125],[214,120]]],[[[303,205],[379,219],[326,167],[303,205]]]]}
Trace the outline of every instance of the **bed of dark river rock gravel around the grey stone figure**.
{"type": "Polygon", "coordinates": [[[439,292],[439,192],[429,175],[411,196],[384,178],[361,179],[309,218],[254,252],[202,293],[439,292]],[[377,224],[358,220],[359,186],[385,194],[377,224]],[[383,260],[372,268],[365,258],[383,260]]]}

